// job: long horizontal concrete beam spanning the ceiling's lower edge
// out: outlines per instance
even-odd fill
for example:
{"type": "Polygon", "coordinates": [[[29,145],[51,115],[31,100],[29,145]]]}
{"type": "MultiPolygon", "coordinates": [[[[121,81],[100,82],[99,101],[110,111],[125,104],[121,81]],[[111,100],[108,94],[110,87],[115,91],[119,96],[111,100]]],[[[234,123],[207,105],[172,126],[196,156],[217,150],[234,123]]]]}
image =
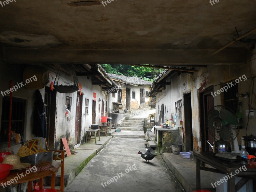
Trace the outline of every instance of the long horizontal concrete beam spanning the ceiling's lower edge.
{"type": "Polygon", "coordinates": [[[246,49],[215,50],[88,50],[88,49],[33,49],[4,48],[4,61],[8,63],[119,63],[119,64],[237,64],[246,62],[246,49]]]}

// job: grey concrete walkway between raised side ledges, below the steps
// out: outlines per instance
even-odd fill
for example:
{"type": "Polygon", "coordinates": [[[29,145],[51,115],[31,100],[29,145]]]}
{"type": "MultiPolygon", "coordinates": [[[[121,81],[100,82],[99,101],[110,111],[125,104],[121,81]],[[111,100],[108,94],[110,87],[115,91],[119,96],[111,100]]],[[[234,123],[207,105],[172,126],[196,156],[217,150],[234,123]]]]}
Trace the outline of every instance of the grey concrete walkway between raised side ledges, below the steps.
{"type": "MultiPolygon", "coordinates": [[[[183,192],[163,160],[146,163],[145,140],[113,138],[66,188],[67,192],[183,192]],[[105,184],[104,184],[105,183],[105,184]]],[[[160,158],[161,159],[161,158],[160,158]]]]}

